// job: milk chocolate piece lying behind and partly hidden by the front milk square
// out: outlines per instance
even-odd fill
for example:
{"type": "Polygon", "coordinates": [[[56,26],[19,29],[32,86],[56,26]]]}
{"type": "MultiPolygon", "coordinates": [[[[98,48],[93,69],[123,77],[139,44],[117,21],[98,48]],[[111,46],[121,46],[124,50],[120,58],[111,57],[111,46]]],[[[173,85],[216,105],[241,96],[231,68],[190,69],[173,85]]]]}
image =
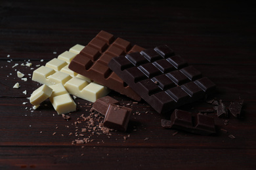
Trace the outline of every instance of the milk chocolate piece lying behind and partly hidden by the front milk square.
{"type": "Polygon", "coordinates": [[[108,105],[110,105],[110,104],[117,105],[117,104],[119,104],[119,101],[106,95],[104,97],[100,97],[99,99],[97,99],[95,101],[95,103],[93,103],[92,110],[96,110],[97,112],[105,115],[106,111],[108,110],[108,105]]]}

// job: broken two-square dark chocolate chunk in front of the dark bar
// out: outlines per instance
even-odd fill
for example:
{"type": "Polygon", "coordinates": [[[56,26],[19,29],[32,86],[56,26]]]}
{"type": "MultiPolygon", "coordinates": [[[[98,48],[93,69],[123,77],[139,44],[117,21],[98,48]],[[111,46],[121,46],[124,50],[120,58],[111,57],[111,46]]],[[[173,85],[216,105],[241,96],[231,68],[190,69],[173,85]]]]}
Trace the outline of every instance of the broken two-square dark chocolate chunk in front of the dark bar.
{"type": "Polygon", "coordinates": [[[216,133],[214,119],[203,114],[192,116],[191,112],[175,109],[171,114],[171,120],[161,120],[161,126],[180,129],[200,135],[216,133]]]}

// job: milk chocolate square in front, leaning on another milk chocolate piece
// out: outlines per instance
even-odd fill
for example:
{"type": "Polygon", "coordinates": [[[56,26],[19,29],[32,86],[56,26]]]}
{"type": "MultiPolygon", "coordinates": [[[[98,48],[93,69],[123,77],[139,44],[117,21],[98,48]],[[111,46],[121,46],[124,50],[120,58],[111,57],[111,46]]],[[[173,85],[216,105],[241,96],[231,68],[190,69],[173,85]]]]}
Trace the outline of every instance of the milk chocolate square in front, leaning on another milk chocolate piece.
{"type": "Polygon", "coordinates": [[[104,118],[104,126],[117,129],[119,131],[126,131],[131,110],[128,107],[120,107],[119,105],[110,104],[104,118]]]}

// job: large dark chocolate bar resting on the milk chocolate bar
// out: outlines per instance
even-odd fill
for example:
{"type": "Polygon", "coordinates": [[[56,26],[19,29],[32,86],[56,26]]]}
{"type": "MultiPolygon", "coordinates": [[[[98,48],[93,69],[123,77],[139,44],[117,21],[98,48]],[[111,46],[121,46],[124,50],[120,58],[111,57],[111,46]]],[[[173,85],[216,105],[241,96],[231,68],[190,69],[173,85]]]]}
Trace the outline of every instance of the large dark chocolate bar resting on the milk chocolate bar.
{"type": "Polygon", "coordinates": [[[209,78],[167,45],[112,58],[109,67],[160,113],[197,101],[215,89],[209,78]]]}

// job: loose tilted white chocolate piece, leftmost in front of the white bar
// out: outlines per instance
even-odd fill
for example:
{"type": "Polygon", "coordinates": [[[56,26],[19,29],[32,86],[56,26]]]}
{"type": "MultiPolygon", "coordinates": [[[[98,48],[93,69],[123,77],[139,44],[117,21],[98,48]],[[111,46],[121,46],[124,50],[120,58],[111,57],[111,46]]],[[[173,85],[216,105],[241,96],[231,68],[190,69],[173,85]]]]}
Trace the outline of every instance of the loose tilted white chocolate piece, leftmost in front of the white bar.
{"type": "Polygon", "coordinates": [[[43,84],[43,86],[40,86],[39,88],[37,88],[37,90],[33,91],[30,97],[30,103],[32,105],[39,105],[40,103],[45,101],[48,97],[50,97],[52,93],[53,93],[53,89],[43,84]]]}

